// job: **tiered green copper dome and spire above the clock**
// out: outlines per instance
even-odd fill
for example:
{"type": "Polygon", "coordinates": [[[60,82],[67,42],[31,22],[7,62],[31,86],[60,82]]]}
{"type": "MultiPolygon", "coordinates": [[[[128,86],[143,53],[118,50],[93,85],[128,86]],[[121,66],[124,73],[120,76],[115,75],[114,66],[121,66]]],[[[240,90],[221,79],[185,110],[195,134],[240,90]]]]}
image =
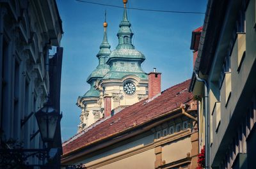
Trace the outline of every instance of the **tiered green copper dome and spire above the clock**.
{"type": "Polygon", "coordinates": [[[127,19],[127,10],[124,8],[122,21],[119,24],[118,45],[109,55],[107,64],[110,68],[104,79],[122,79],[127,75],[135,75],[142,80],[148,80],[147,73],[141,68],[145,55],[134,49],[132,45],[131,23],[127,19]]]}

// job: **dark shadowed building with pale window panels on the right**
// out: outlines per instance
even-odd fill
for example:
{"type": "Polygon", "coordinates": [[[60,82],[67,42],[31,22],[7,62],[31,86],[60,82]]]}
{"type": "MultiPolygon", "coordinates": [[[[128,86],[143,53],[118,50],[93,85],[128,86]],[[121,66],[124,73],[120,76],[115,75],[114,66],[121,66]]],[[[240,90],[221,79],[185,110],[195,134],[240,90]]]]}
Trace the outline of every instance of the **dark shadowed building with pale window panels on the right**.
{"type": "Polygon", "coordinates": [[[208,2],[194,68],[208,90],[195,73],[190,90],[209,95],[199,116],[209,125],[200,133],[211,168],[255,168],[255,6],[255,0],[208,2]]]}

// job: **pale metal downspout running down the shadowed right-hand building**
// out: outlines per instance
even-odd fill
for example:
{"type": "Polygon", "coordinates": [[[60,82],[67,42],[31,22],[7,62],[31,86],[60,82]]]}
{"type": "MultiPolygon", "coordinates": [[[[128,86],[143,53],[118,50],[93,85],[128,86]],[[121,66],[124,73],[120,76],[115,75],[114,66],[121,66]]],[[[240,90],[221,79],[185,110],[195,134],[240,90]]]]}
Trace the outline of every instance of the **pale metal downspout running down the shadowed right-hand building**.
{"type": "Polygon", "coordinates": [[[210,167],[210,128],[209,128],[209,84],[206,80],[200,78],[194,70],[196,80],[204,83],[204,110],[205,110],[205,169],[210,167]]]}

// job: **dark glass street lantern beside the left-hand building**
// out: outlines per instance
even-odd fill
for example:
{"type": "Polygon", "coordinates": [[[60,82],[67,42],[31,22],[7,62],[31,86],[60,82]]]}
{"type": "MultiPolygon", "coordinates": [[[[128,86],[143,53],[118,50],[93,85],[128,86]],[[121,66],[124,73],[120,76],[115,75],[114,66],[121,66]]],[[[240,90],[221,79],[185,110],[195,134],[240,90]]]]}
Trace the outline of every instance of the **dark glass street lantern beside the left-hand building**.
{"type": "Polygon", "coordinates": [[[62,115],[47,102],[35,116],[43,142],[52,142],[62,115]]]}

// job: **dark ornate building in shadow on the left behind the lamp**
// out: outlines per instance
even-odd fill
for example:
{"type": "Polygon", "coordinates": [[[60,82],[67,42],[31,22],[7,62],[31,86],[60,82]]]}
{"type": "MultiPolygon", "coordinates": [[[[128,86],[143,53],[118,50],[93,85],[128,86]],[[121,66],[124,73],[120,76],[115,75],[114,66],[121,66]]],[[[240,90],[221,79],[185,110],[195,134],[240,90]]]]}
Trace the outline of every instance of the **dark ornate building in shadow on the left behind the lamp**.
{"type": "MultiPolygon", "coordinates": [[[[0,17],[1,148],[8,140],[22,142],[24,149],[42,148],[34,114],[48,97],[60,112],[63,49],[49,55],[63,34],[56,1],[1,1],[0,17]]],[[[53,144],[61,147],[60,126],[57,133],[53,144]]]]}

